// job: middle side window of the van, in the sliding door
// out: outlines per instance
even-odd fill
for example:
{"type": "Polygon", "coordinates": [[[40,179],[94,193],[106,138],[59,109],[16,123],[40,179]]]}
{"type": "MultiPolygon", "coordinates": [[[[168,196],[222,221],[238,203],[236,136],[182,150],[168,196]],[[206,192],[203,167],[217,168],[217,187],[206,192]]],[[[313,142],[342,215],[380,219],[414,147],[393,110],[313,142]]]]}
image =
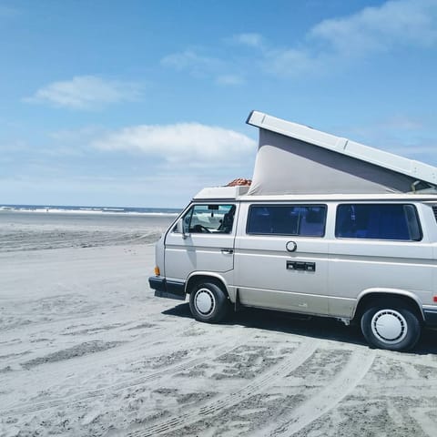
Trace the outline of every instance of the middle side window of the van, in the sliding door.
{"type": "Polygon", "coordinates": [[[325,235],[326,205],[251,205],[246,232],[260,235],[325,235]]]}

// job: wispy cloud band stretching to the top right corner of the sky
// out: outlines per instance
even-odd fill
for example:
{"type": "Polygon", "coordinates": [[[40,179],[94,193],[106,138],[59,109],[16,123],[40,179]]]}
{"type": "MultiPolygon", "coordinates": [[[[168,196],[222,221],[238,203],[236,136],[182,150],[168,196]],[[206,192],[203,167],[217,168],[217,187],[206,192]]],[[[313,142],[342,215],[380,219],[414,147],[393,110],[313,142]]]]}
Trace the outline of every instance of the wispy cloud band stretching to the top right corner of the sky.
{"type": "Polygon", "coordinates": [[[226,59],[187,50],[166,56],[161,62],[219,85],[244,83],[242,77],[251,76],[254,66],[267,75],[286,78],[323,75],[391,50],[436,46],[437,0],[391,0],[352,15],[326,19],[292,45],[284,40],[275,46],[255,32],[230,36],[224,42],[228,44],[226,59]],[[229,51],[236,46],[252,50],[249,56],[229,51]]]}

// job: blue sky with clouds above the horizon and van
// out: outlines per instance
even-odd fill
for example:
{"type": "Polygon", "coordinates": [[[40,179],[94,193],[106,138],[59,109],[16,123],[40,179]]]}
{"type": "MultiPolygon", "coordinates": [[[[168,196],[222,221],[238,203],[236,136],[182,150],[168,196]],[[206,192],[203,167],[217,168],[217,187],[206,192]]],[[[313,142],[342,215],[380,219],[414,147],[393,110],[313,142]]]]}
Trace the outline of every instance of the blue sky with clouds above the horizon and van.
{"type": "Polygon", "coordinates": [[[437,0],[0,0],[0,204],[183,207],[252,109],[437,166],[437,0]]]}

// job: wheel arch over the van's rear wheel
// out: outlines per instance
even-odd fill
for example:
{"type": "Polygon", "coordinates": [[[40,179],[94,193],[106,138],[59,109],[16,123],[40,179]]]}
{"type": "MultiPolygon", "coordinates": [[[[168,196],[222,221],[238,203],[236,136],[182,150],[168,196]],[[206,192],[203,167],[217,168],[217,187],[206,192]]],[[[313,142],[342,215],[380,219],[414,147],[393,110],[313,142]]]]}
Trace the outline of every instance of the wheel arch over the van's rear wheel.
{"type": "Polygon", "coordinates": [[[364,311],[371,307],[373,303],[381,300],[399,300],[405,307],[424,321],[422,302],[412,292],[396,289],[370,289],[364,290],[358,297],[355,312],[352,320],[360,320],[364,311]]]}

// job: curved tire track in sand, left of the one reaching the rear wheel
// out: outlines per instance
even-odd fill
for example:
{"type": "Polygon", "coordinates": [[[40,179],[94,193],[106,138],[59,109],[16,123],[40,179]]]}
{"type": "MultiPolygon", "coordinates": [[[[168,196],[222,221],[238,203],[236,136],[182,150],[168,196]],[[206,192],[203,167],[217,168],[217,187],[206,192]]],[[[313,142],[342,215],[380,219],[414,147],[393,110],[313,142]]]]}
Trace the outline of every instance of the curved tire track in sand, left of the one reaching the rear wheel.
{"type": "Polygon", "coordinates": [[[317,350],[319,341],[310,339],[303,340],[296,351],[290,356],[279,361],[278,364],[272,366],[268,371],[260,374],[258,378],[251,381],[237,391],[232,391],[229,394],[219,396],[206,405],[188,410],[179,416],[169,418],[163,422],[148,427],[146,430],[137,430],[129,432],[128,437],[154,437],[158,434],[175,432],[189,424],[201,421],[205,417],[216,416],[224,409],[229,409],[241,401],[246,400],[253,394],[257,393],[273,385],[276,381],[284,378],[290,371],[297,369],[303,362],[307,361],[310,356],[317,350]]]}

